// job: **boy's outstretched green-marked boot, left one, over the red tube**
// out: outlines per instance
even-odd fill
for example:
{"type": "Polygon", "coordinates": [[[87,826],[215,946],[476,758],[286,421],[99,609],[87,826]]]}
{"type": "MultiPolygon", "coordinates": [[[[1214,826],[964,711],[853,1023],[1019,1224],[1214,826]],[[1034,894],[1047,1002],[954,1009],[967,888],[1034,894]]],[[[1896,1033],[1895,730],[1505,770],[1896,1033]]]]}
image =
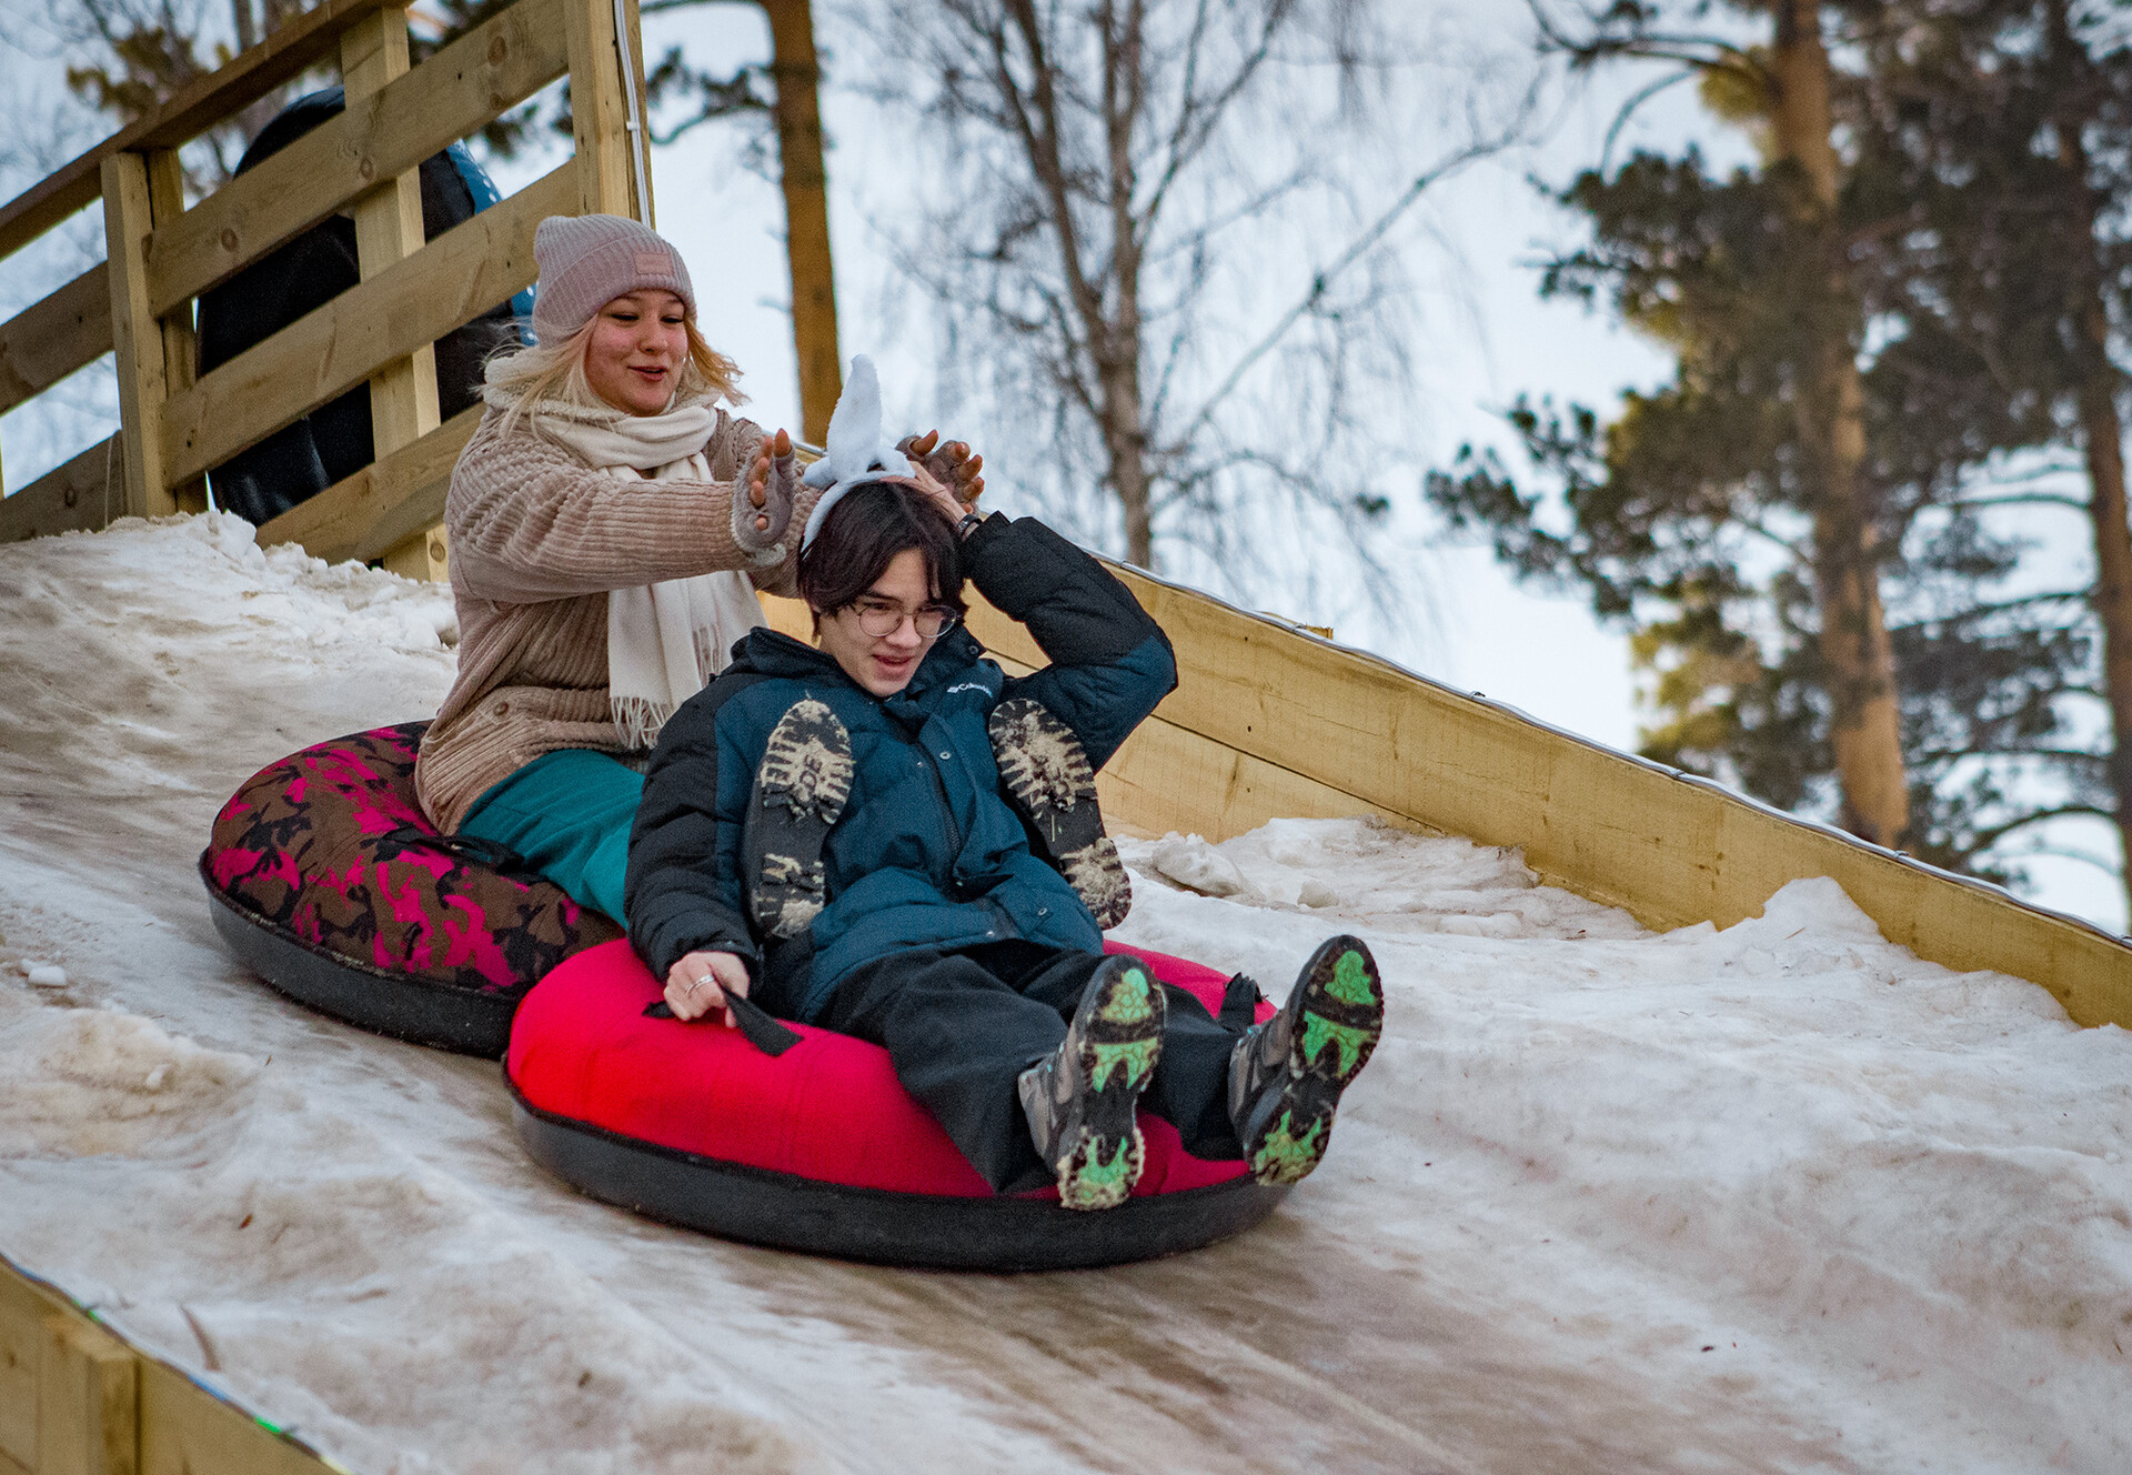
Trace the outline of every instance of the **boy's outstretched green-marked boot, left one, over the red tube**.
{"type": "Polygon", "coordinates": [[[1066,1209],[1115,1209],[1141,1181],[1141,1091],[1162,1059],[1162,985],[1136,957],[1107,957],[1066,1038],[1015,1083],[1030,1140],[1066,1209]]]}

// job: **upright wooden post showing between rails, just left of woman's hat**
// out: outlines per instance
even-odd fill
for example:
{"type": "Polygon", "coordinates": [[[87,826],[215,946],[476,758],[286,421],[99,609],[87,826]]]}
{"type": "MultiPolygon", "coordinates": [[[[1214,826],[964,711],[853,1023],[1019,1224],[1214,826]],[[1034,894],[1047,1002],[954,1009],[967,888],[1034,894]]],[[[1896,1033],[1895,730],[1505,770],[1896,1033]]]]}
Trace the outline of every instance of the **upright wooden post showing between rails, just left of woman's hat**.
{"type": "MultiPolygon", "coordinates": [[[[341,36],[341,87],[348,109],[382,92],[388,81],[407,72],[407,11],[386,9],[367,15],[341,36]]],[[[356,266],[362,277],[375,277],[422,249],[422,177],[420,166],[382,181],[360,196],[356,217],[356,266]]],[[[386,367],[371,379],[371,441],[375,458],[384,460],[403,445],[437,428],[437,354],[424,343],[407,358],[386,367]]],[[[384,565],[409,578],[441,578],[431,561],[426,533],[409,537],[384,556],[384,565]]]]}

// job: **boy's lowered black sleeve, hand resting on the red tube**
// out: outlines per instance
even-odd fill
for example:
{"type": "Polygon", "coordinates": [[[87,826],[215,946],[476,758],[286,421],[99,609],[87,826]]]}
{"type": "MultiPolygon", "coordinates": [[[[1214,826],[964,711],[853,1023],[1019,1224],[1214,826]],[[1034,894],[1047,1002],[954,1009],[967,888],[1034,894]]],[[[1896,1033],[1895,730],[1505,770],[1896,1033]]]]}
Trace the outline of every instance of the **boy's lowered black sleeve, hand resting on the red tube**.
{"type": "MultiPolygon", "coordinates": [[[[738,814],[718,806],[718,714],[753,684],[744,678],[712,682],[680,706],[659,731],[644,797],[629,829],[629,874],[623,910],[629,944],[665,983],[676,961],[697,951],[733,953],[761,972],[761,949],[748,931],[736,844],[721,846],[721,825],[738,836],[738,814]]],[[[731,710],[738,723],[740,710],[731,710]]]]}

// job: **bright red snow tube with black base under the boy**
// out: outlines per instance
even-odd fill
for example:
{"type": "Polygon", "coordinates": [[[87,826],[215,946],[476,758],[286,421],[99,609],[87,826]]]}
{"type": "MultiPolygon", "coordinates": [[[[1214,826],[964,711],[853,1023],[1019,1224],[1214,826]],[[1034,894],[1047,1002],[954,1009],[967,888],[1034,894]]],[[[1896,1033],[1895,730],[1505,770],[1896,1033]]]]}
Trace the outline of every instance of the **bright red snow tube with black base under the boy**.
{"type": "MultiPolygon", "coordinates": [[[[1222,1008],[1211,968],[1107,951],[1222,1008]]],[[[1241,1162],[1192,1157],[1177,1128],[1143,1115],[1147,1168],[1117,1209],[1066,1211],[1055,1189],[996,1196],[878,1044],[791,1025],[797,1044],[768,1055],[738,1030],[646,1017],[659,998],[627,942],[591,949],[524,998],[503,1061],[533,1160],[655,1219],[840,1260],[1064,1270],[1209,1245],[1288,1194],[1241,1162]]]]}

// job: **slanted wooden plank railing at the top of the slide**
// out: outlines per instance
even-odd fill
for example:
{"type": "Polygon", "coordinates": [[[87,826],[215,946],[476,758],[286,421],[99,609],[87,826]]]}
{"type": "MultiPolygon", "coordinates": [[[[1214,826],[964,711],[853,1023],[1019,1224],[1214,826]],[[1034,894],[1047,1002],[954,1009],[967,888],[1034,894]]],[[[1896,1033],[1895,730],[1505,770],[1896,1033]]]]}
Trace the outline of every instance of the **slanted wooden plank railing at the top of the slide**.
{"type": "Polygon", "coordinates": [[[107,241],[104,264],[0,324],[0,414],[115,352],[122,424],[0,501],[0,541],[200,507],[207,469],[369,382],[375,463],[260,541],[441,576],[429,529],[478,414],[437,422],[431,345],[533,281],[542,217],[648,217],[625,102],[642,109],[642,87],[623,72],[627,58],[642,79],[635,13],[618,45],[612,0],[518,0],[409,68],[403,0],[326,0],[0,207],[0,260],[98,196],[107,241]],[[177,149],[318,66],[339,70],[345,111],[185,209],[177,149]],[[571,160],[424,243],[422,160],[563,75],[571,160]],[[200,292],[337,211],[356,222],[360,283],[196,375],[200,292]]]}

